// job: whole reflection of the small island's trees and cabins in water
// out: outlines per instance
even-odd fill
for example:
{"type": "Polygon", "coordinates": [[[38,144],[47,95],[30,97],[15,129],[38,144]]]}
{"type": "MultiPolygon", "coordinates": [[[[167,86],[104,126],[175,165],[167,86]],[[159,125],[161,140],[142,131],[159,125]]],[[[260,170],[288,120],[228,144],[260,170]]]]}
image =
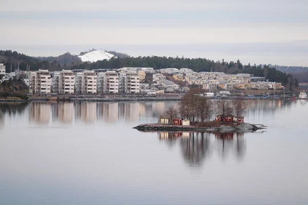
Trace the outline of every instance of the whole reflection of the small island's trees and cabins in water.
{"type": "Polygon", "coordinates": [[[189,167],[201,167],[207,159],[225,160],[234,156],[243,160],[246,151],[244,133],[239,132],[158,132],[168,147],[179,144],[182,157],[189,167]]]}

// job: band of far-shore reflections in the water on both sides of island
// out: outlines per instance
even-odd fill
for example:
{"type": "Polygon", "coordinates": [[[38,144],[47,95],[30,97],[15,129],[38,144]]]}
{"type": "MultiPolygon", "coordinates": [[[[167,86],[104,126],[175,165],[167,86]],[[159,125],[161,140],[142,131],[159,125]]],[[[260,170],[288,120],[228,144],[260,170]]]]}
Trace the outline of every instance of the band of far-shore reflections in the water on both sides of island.
{"type": "MultiPolygon", "coordinates": [[[[291,109],[293,104],[306,105],[306,100],[250,100],[247,102],[247,118],[256,120],[265,113],[274,114],[279,109],[291,109]]],[[[4,126],[5,115],[21,115],[28,112],[29,122],[35,125],[96,125],[97,123],[131,124],[156,122],[159,115],[169,107],[179,107],[178,101],[94,103],[76,101],[32,101],[28,104],[0,104],[0,125],[4,126]]]]}

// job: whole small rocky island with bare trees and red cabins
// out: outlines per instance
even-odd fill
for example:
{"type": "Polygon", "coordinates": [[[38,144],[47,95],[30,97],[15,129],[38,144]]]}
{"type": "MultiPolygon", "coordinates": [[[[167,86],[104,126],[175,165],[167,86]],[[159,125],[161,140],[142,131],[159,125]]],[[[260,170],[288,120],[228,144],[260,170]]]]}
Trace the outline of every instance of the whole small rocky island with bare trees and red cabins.
{"type": "Polygon", "coordinates": [[[254,132],[266,129],[264,125],[244,122],[245,112],[244,100],[221,99],[213,102],[194,92],[188,92],[182,98],[178,109],[170,107],[164,115],[159,116],[157,123],[142,124],[133,129],[144,132],[254,132]]]}

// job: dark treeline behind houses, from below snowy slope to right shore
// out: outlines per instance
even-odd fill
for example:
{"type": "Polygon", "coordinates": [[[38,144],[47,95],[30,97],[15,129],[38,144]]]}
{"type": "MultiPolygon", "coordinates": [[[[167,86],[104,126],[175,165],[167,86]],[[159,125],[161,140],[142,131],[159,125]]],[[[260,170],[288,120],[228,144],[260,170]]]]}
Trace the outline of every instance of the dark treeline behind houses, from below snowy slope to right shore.
{"type": "Polygon", "coordinates": [[[298,80],[291,74],[278,71],[266,65],[242,65],[240,60],[225,62],[209,60],[206,58],[179,58],[179,57],[126,57],[101,60],[96,63],[83,63],[73,66],[71,69],[100,69],[100,68],[122,68],[122,67],[151,67],[162,68],[190,68],[196,72],[224,72],[227,74],[249,73],[255,76],[265,77],[266,80],[282,83],[291,90],[298,87],[298,80]]]}

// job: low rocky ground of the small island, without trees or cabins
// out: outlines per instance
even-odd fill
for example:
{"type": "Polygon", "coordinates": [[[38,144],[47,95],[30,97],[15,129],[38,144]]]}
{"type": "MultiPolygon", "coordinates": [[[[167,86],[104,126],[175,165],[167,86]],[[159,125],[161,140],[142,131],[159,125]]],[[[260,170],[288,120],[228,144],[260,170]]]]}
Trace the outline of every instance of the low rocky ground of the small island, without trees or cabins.
{"type": "Polygon", "coordinates": [[[165,125],[165,124],[141,124],[139,126],[133,127],[133,129],[144,131],[144,132],[152,132],[152,131],[195,131],[195,132],[254,132],[257,130],[265,129],[262,127],[258,127],[246,122],[242,123],[223,123],[221,122],[219,125],[203,125],[203,126],[181,126],[181,125],[165,125]]]}

